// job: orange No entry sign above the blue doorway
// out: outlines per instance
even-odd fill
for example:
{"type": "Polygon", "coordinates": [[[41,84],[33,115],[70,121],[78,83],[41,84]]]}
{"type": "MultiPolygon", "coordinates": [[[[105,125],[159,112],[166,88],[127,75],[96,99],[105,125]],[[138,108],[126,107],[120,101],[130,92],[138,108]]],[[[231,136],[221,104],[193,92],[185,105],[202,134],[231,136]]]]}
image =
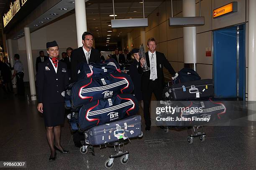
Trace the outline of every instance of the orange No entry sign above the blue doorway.
{"type": "Polygon", "coordinates": [[[233,13],[237,12],[237,2],[231,2],[227,5],[224,5],[222,7],[219,7],[212,12],[213,18],[220,17],[222,15],[228,14],[228,13],[233,13]]]}

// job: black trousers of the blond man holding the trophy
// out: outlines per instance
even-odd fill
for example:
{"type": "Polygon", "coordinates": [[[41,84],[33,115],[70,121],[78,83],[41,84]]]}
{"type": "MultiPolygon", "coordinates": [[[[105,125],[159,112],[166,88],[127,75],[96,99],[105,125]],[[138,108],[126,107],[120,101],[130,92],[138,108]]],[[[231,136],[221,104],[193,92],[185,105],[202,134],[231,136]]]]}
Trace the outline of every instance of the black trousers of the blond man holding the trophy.
{"type": "Polygon", "coordinates": [[[154,92],[154,95],[156,96],[156,100],[160,101],[162,100],[162,85],[158,82],[158,80],[150,80],[148,89],[143,89],[142,95],[143,95],[143,115],[145,124],[147,127],[151,126],[151,120],[150,120],[150,102],[151,102],[151,96],[152,92],[154,92]]]}

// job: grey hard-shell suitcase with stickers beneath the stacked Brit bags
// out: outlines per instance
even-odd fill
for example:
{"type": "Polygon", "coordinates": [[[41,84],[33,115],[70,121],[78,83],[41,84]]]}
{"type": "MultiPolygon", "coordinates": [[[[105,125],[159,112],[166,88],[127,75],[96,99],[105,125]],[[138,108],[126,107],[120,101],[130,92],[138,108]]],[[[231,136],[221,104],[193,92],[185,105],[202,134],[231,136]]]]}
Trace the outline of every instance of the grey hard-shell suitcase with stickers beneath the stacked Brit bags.
{"type": "Polygon", "coordinates": [[[91,145],[115,142],[119,139],[142,136],[141,116],[133,115],[122,120],[95,126],[84,132],[85,140],[91,145]]]}

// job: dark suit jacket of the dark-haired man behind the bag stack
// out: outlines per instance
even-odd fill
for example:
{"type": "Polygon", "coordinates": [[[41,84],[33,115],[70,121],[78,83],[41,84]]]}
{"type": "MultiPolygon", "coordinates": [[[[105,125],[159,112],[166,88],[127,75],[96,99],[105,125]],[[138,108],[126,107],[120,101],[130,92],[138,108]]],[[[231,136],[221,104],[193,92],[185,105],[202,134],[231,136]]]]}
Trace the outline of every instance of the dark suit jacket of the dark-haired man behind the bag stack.
{"type": "MultiPolygon", "coordinates": [[[[71,83],[77,81],[77,64],[87,62],[82,47],[79,47],[71,52],[71,83]]],[[[94,48],[91,49],[89,63],[100,63],[100,52],[94,48]]]]}

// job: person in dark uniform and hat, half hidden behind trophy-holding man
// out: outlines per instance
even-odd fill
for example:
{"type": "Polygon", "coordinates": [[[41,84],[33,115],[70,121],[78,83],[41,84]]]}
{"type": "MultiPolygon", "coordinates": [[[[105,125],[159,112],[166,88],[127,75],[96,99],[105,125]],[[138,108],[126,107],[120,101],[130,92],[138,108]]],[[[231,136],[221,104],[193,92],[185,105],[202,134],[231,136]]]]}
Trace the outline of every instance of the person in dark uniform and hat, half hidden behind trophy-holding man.
{"type": "Polygon", "coordinates": [[[143,109],[143,100],[142,100],[142,92],[141,92],[141,76],[142,76],[142,74],[138,72],[138,66],[140,65],[140,63],[139,63],[140,56],[139,56],[138,52],[139,52],[138,48],[134,48],[131,51],[131,54],[132,54],[134,60],[131,63],[127,74],[131,76],[131,79],[133,81],[133,86],[134,86],[133,94],[135,95],[138,102],[141,102],[141,108],[143,109]]]}

